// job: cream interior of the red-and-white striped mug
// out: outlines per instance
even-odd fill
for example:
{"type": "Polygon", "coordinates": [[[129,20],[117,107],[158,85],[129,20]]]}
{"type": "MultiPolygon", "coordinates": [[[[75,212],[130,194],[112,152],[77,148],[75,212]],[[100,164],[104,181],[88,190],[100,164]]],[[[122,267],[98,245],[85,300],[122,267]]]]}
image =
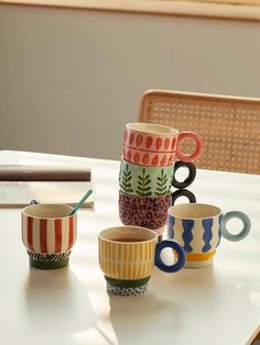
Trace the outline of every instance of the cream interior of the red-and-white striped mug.
{"type": "Polygon", "coordinates": [[[73,208],[67,204],[32,204],[23,209],[23,214],[32,218],[54,219],[69,216],[73,208]]]}

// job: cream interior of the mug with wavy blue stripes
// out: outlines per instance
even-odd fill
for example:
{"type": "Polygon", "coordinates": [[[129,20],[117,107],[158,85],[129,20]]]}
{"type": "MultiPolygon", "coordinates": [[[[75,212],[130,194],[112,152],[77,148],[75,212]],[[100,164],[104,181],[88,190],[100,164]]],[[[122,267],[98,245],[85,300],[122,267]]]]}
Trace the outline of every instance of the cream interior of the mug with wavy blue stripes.
{"type": "Polygon", "coordinates": [[[213,204],[182,203],[171,207],[167,213],[174,218],[196,220],[219,215],[221,210],[213,204]]]}

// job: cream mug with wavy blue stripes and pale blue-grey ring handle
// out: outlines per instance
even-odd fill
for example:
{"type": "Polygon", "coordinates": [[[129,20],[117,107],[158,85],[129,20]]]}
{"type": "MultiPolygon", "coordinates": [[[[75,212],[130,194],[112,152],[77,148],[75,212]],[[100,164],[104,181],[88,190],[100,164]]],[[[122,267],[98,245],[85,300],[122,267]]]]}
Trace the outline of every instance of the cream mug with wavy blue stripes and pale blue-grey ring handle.
{"type": "Polygon", "coordinates": [[[183,245],[186,253],[185,267],[201,268],[213,264],[221,236],[229,241],[240,241],[250,231],[250,220],[243,212],[226,214],[215,205],[205,203],[183,203],[169,209],[167,235],[183,245]],[[227,230],[230,219],[240,219],[242,230],[234,235],[227,230]]]}

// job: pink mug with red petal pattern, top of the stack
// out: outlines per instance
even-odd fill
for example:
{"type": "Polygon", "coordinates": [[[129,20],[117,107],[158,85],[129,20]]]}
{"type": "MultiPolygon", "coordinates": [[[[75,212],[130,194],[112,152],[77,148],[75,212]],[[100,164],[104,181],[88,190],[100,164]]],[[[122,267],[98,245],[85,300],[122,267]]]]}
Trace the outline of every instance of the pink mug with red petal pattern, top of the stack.
{"type": "Polygon", "coordinates": [[[152,123],[128,123],[123,135],[123,158],[130,163],[144,166],[169,166],[175,155],[182,162],[198,158],[203,151],[203,141],[194,132],[178,130],[152,123]],[[195,152],[184,154],[181,143],[184,140],[196,143],[195,152]]]}

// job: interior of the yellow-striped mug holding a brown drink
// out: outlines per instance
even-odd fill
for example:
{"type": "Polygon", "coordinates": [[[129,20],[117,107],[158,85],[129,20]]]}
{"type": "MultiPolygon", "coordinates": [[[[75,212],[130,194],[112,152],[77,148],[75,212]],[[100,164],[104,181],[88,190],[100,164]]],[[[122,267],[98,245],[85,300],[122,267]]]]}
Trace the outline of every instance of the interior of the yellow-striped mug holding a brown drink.
{"type": "MultiPolygon", "coordinates": [[[[108,227],[102,230],[99,233],[99,237],[102,240],[109,240],[113,242],[119,242],[117,238],[141,238],[143,242],[156,238],[156,233],[141,226],[116,226],[116,227],[108,227]]],[[[134,241],[133,241],[134,242],[134,241]]],[[[126,242],[121,242],[126,243],[126,242]]],[[[131,243],[131,241],[128,241],[131,243]]]]}

